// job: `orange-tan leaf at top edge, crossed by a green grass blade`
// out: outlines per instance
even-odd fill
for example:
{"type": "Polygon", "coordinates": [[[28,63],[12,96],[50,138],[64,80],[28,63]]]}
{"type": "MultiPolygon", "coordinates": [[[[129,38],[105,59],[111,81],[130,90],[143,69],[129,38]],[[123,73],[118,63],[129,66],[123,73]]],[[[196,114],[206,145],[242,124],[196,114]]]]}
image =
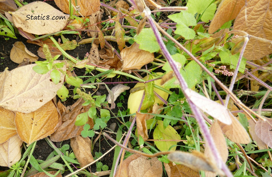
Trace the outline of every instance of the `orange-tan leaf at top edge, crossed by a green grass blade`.
{"type": "MultiPolygon", "coordinates": [[[[69,11],[69,1],[64,0],[54,0],[56,5],[66,14],[70,14],[69,11]]],[[[76,7],[75,0],[71,1],[72,5],[76,7]]],[[[80,13],[83,16],[89,16],[100,10],[100,1],[99,0],[78,0],[77,5],[80,7],[80,13]]],[[[73,14],[76,14],[75,8],[73,9],[73,14]]]]}

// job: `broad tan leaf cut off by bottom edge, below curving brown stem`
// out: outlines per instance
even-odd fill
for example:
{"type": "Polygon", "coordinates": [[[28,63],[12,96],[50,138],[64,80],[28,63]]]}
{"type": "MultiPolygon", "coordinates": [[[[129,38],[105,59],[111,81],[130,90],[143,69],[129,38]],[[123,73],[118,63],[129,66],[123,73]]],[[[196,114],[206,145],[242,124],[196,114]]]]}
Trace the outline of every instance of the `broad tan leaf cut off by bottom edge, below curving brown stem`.
{"type": "Polygon", "coordinates": [[[162,163],[157,157],[148,158],[133,154],[119,166],[115,177],[161,177],[162,163]]]}

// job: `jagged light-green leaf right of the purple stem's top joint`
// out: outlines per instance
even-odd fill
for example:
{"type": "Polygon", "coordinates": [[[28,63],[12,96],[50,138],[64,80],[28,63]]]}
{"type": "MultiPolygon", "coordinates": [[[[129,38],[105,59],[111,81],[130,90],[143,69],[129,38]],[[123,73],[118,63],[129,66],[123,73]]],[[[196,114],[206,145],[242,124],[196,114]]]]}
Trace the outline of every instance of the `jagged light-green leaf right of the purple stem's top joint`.
{"type": "Polygon", "coordinates": [[[169,15],[168,18],[177,23],[175,34],[180,34],[184,39],[194,39],[196,33],[193,29],[188,26],[196,26],[196,19],[193,14],[186,11],[181,11],[180,13],[169,15]]]}

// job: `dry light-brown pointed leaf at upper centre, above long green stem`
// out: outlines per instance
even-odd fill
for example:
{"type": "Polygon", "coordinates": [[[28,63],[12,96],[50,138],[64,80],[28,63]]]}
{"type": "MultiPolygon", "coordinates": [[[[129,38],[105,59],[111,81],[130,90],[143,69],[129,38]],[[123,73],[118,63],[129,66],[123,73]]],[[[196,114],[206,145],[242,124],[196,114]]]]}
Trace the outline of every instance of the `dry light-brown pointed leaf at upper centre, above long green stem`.
{"type": "Polygon", "coordinates": [[[141,69],[143,65],[152,62],[154,59],[153,53],[139,49],[139,44],[136,42],[123,49],[120,54],[123,60],[122,70],[141,69]]]}

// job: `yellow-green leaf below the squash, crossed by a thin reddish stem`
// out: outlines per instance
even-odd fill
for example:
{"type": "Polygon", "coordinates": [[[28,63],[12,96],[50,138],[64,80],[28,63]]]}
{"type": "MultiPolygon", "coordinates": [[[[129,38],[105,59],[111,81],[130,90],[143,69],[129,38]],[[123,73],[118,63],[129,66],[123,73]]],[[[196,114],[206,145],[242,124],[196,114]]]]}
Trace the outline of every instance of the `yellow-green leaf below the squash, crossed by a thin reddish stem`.
{"type": "MultiPolygon", "coordinates": [[[[168,125],[166,129],[163,128],[163,121],[157,121],[157,127],[153,132],[154,139],[160,140],[181,140],[180,135],[173,127],[168,125]]],[[[155,145],[160,151],[168,151],[173,145],[177,145],[177,141],[154,141],[155,145]]],[[[171,148],[171,151],[176,150],[176,146],[171,148]]]]}

